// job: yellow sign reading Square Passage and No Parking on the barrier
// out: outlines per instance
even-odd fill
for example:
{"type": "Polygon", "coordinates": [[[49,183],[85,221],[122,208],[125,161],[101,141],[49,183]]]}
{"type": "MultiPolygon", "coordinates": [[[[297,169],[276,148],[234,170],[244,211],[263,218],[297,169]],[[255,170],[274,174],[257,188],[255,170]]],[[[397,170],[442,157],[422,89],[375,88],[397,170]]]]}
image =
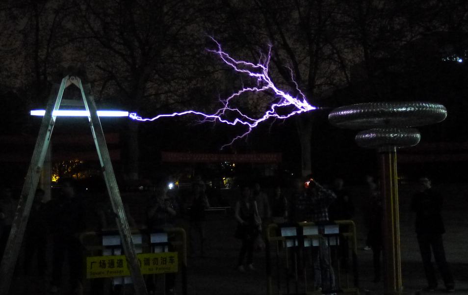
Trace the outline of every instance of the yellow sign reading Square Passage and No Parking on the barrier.
{"type": "MultiPolygon", "coordinates": [[[[177,252],[137,254],[143,274],[177,272],[177,252]]],[[[86,257],[86,278],[130,275],[125,255],[86,257]]]]}

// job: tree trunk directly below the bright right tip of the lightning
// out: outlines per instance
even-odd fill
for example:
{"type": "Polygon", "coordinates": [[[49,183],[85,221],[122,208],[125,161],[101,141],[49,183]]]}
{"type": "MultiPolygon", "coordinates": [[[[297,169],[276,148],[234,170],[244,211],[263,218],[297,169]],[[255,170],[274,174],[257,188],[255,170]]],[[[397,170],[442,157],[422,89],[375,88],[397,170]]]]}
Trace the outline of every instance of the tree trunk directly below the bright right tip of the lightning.
{"type": "Polygon", "coordinates": [[[297,116],[297,132],[301,142],[302,176],[312,173],[312,114],[306,112],[297,116]]]}

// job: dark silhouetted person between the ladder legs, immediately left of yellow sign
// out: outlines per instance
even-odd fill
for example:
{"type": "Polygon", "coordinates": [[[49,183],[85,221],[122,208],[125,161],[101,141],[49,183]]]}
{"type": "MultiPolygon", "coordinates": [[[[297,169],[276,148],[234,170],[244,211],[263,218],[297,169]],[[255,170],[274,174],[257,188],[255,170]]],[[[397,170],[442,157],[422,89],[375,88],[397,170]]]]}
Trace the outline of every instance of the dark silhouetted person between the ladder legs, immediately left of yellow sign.
{"type": "Polygon", "coordinates": [[[60,196],[48,204],[49,227],[53,235],[52,282],[50,293],[57,293],[62,281],[65,253],[74,294],[82,294],[83,247],[79,234],[86,228],[85,206],[76,194],[71,178],[59,181],[60,196]]]}

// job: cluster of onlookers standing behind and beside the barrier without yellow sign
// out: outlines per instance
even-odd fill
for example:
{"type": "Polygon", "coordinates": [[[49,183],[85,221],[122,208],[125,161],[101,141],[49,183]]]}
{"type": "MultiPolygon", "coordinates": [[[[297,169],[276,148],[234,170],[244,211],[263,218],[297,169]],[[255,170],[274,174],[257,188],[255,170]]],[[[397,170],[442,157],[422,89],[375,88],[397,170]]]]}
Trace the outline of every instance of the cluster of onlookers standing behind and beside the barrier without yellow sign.
{"type": "MultiPolygon", "coordinates": [[[[343,181],[337,179],[333,188],[324,188],[312,178],[298,179],[293,193],[288,198],[281,194],[281,188],[274,189],[270,207],[269,198],[260,190],[260,185],[242,188],[242,195],[235,204],[237,226],[234,237],[242,241],[237,262],[237,270],[246,271],[246,267],[255,270],[253,252],[255,247],[262,247],[264,230],[269,222],[285,223],[313,221],[323,223],[329,220],[348,220],[354,215],[354,205],[348,192],[343,189],[343,181]],[[244,264],[245,262],[245,264],[244,264]]],[[[348,245],[345,239],[340,244],[340,253],[347,264],[348,245]]],[[[293,248],[293,250],[296,250],[293,248]]],[[[330,261],[330,248],[325,241],[319,243],[319,249],[312,247],[314,280],[323,290],[335,289],[335,275],[330,261]]],[[[298,255],[299,253],[296,253],[298,255]]]]}

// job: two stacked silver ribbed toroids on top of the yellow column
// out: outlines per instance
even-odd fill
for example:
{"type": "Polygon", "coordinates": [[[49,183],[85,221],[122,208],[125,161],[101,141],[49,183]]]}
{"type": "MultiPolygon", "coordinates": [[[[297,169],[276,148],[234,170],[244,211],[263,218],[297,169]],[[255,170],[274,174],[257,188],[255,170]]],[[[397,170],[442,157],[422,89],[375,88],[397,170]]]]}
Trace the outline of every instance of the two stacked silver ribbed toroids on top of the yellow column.
{"type": "Polygon", "coordinates": [[[440,104],[385,102],[338,107],[328,119],[337,127],[368,129],[356,135],[360,147],[394,150],[419,142],[421,134],[410,127],[438,123],[446,116],[447,110],[440,104]]]}

